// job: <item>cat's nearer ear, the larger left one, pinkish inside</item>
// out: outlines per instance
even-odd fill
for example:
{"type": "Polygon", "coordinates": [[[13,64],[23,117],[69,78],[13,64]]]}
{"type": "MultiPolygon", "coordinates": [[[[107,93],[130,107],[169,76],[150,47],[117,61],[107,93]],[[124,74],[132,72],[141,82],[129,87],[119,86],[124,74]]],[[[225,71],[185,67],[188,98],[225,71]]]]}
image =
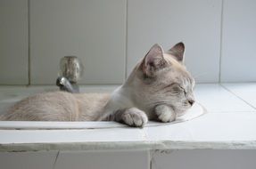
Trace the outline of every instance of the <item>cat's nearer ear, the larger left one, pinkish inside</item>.
{"type": "Polygon", "coordinates": [[[154,44],[149,52],[146,53],[142,62],[142,70],[146,76],[153,76],[154,73],[165,68],[166,60],[163,58],[163,50],[159,44],[154,44]]]}

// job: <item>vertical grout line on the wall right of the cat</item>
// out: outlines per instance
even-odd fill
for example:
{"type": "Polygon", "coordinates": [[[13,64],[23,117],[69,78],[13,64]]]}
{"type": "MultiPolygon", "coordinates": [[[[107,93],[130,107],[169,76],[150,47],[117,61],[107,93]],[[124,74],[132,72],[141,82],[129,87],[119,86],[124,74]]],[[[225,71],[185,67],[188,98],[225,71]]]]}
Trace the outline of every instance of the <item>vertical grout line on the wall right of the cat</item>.
{"type": "Polygon", "coordinates": [[[219,39],[219,83],[221,83],[221,64],[222,64],[222,44],[223,44],[223,9],[224,1],[221,1],[221,12],[220,12],[220,39],[219,39]]]}

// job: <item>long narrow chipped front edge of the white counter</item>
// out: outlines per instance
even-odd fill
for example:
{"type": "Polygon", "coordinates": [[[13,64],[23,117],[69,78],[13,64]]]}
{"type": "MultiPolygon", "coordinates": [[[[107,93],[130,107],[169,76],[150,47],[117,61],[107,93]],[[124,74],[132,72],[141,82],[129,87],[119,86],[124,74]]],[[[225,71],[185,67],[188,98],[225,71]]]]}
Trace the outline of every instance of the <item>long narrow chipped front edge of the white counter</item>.
{"type": "Polygon", "coordinates": [[[256,149],[256,141],[110,141],[0,144],[0,152],[124,149],[256,149]]]}

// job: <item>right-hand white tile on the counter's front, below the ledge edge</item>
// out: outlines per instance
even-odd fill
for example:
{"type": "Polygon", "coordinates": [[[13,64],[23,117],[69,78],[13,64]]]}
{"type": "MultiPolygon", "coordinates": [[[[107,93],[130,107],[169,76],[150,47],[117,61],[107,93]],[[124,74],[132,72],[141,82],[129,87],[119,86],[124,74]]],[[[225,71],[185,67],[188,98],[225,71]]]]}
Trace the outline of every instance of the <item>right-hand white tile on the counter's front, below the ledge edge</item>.
{"type": "Polygon", "coordinates": [[[152,153],[152,169],[255,168],[255,150],[173,150],[152,153]]]}

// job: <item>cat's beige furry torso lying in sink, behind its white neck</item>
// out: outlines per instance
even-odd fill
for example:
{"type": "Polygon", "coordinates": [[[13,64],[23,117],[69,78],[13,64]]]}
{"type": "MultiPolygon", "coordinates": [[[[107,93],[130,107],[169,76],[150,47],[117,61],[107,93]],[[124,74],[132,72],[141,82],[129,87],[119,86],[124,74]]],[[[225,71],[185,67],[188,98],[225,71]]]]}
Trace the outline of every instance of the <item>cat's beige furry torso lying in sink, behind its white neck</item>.
{"type": "Polygon", "coordinates": [[[110,94],[39,93],[14,104],[2,117],[19,121],[95,121],[110,94]]]}

